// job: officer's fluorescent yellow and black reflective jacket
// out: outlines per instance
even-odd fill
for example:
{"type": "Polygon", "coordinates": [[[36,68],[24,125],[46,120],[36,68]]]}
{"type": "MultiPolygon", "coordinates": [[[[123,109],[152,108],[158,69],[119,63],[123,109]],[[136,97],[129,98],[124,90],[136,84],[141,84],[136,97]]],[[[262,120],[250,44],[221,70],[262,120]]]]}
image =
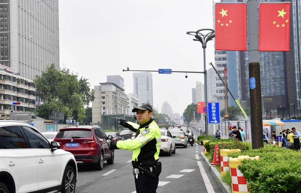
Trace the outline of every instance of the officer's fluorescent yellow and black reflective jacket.
{"type": "Polygon", "coordinates": [[[138,132],[135,139],[118,141],[116,146],[119,149],[134,151],[132,156],[133,167],[139,165],[152,165],[159,159],[161,146],[161,133],[154,120],[149,120],[143,125],[138,125],[130,121],[126,122],[127,127],[131,127],[133,132],[138,132]],[[137,129],[137,130],[136,130],[137,129]]]}

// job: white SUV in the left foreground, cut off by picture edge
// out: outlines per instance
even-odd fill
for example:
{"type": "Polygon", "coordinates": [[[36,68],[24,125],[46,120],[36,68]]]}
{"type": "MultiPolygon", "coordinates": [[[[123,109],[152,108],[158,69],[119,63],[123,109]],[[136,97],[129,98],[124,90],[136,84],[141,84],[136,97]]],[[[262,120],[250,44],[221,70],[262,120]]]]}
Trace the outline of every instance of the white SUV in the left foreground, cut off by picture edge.
{"type": "Polygon", "coordinates": [[[34,127],[0,121],[0,192],[74,193],[76,160],[34,127]]]}

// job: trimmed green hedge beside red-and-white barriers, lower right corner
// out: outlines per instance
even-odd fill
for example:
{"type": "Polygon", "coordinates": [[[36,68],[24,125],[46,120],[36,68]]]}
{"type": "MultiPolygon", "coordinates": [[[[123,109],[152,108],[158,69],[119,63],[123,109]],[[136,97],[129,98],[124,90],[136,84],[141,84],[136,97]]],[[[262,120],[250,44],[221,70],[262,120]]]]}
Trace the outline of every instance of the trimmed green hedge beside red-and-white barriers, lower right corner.
{"type": "Polygon", "coordinates": [[[259,156],[257,160],[243,160],[238,169],[250,183],[250,192],[301,192],[301,152],[264,145],[260,149],[249,149],[238,153],[229,153],[229,157],[248,155],[259,156]]]}

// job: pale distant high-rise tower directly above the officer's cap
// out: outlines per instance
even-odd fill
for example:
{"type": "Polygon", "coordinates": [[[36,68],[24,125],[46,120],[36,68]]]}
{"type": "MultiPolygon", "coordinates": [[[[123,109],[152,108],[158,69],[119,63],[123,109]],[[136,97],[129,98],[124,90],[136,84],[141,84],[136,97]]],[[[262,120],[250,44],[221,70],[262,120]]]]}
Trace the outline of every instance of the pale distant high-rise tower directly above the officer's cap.
{"type": "Polygon", "coordinates": [[[137,96],[139,104],[153,104],[153,75],[151,72],[133,73],[134,95],[137,96]]]}

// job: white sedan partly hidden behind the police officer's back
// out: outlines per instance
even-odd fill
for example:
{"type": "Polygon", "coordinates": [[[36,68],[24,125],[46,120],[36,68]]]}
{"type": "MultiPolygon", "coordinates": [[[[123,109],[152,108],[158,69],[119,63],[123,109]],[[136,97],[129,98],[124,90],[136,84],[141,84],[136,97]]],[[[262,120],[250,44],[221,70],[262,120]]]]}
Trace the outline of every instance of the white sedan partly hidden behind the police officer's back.
{"type": "Polygon", "coordinates": [[[175,154],[175,140],[168,130],[160,130],[161,132],[161,153],[167,153],[168,156],[175,154]]]}

